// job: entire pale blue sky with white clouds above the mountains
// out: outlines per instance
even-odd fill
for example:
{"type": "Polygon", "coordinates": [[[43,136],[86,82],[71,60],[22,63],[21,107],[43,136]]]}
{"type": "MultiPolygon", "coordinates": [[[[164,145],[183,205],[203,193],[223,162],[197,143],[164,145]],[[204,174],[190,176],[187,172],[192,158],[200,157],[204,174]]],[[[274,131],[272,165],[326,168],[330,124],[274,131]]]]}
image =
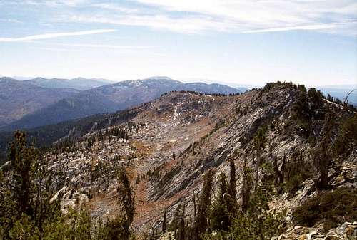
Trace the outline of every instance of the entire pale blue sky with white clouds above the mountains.
{"type": "Polygon", "coordinates": [[[0,75],[357,84],[356,0],[0,0],[0,75]]]}

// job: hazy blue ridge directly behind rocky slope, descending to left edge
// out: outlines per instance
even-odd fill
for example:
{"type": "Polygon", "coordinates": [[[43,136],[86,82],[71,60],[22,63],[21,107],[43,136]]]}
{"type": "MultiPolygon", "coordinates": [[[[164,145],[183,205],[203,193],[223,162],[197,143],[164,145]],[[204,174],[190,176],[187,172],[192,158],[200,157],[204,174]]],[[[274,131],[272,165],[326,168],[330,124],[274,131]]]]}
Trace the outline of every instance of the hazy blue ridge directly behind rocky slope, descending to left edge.
{"type": "Polygon", "coordinates": [[[143,80],[126,80],[111,85],[103,85],[64,98],[58,102],[37,110],[20,120],[0,128],[15,130],[17,128],[33,128],[56,122],[83,118],[96,113],[109,113],[116,110],[139,105],[158,98],[161,94],[173,90],[191,90],[201,93],[240,93],[236,88],[226,85],[182,83],[167,77],[151,77],[143,80]]]}

